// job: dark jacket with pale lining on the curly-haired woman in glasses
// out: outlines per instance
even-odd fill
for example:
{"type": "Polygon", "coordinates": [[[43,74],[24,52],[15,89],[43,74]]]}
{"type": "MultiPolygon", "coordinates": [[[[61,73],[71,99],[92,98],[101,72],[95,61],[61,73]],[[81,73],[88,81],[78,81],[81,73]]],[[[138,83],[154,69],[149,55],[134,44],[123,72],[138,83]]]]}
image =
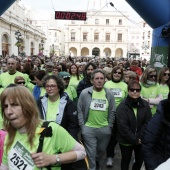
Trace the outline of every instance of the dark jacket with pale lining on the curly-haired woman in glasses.
{"type": "MultiPolygon", "coordinates": [[[[37,100],[37,105],[40,111],[40,117],[43,120],[46,120],[46,111],[48,109],[48,95],[45,94],[43,97],[40,97],[37,100]],[[47,107],[47,108],[45,108],[47,107]]],[[[59,104],[59,115],[61,116],[61,120],[56,123],[60,124],[64,129],[66,129],[71,136],[73,136],[76,140],[78,140],[78,115],[76,105],[70,100],[69,96],[63,92],[60,95],[60,104],[59,104]]]]}

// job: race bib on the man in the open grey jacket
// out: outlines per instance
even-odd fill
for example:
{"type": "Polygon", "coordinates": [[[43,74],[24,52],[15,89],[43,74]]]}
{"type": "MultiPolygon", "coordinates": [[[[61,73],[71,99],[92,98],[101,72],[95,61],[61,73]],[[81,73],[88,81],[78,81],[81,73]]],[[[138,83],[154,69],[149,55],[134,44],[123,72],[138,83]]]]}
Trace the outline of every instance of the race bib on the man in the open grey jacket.
{"type": "Polygon", "coordinates": [[[90,109],[106,111],[106,100],[102,99],[92,99],[90,109]]]}

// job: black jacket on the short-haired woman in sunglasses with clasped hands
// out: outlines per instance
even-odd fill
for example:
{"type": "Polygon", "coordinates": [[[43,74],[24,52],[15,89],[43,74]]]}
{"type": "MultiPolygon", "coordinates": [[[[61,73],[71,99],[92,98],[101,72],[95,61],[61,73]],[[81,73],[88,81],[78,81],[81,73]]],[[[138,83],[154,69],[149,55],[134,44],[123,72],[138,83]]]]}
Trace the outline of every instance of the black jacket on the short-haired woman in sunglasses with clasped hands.
{"type": "Polygon", "coordinates": [[[137,145],[143,139],[144,131],[152,114],[148,102],[139,98],[134,103],[129,96],[117,107],[117,141],[121,144],[137,145]],[[135,116],[133,107],[137,108],[135,116]]]}

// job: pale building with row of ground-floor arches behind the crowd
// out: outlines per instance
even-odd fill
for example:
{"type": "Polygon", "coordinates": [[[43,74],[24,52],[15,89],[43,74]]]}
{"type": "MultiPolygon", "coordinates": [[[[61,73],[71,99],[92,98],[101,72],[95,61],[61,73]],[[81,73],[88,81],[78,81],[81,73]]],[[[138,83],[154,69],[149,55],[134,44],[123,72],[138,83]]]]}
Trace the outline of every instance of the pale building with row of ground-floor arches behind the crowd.
{"type": "MultiPolygon", "coordinates": [[[[124,13],[128,17],[127,13],[124,13]]],[[[86,21],[68,21],[65,54],[71,56],[126,57],[128,19],[119,12],[91,10],[86,21]]]]}

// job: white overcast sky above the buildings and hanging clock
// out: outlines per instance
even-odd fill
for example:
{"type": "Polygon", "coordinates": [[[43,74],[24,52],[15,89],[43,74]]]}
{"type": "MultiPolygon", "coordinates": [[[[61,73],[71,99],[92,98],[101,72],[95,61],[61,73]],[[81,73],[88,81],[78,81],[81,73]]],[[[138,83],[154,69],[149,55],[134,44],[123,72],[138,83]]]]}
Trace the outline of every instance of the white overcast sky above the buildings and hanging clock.
{"type": "Polygon", "coordinates": [[[119,11],[128,11],[130,18],[137,21],[140,16],[130,7],[125,0],[21,0],[21,4],[31,6],[36,10],[47,11],[87,11],[90,9],[96,9],[102,11],[116,11],[107,3],[112,2],[114,7],[119,11]]]}

